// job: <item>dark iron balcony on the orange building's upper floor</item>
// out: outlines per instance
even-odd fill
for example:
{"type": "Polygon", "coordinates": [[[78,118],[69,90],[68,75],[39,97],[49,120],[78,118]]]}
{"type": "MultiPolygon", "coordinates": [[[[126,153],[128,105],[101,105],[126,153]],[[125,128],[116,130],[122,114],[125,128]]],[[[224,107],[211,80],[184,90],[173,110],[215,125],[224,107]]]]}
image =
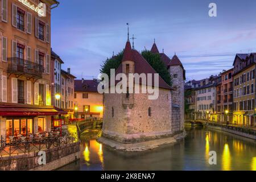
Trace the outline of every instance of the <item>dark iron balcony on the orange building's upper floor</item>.
{"type": "Polygon", "coordinates": [[[26,76],[29,78],[42,78],[42,73],[44,72],[43,65],[20,59],[18,57],[9,57],[7,60],[8,73],[14,73],[19,76],[26,76]]]}

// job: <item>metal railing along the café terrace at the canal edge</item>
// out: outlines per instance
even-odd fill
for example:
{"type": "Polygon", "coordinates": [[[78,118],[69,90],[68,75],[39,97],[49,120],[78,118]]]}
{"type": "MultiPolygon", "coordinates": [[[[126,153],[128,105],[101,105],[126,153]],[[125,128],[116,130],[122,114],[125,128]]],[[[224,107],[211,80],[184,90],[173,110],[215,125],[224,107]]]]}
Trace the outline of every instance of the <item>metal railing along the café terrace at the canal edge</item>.
{"type": "Polygon", "coordinates": [[[48,150],[50,148],[61,147],[72,143],[79,142],[77,133],[67,134],[64,136],[42,137],[16,139],[6,143],[1,137],[0,140],[0,157],[12,155],[26,155],[39,151],[48,150]]]}

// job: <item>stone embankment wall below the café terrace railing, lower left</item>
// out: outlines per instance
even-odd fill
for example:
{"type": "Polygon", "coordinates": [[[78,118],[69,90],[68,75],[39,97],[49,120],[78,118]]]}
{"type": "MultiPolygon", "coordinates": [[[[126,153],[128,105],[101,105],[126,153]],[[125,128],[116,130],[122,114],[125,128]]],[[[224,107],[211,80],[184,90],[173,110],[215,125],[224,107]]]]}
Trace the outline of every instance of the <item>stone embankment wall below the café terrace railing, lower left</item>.
{"type": "Polygon", "coordinates": [[[54,170],[80,158],[80,143],[46,150],[46,165],[38,164],[38,152],[0,158],[0,171],[54,170]]]}

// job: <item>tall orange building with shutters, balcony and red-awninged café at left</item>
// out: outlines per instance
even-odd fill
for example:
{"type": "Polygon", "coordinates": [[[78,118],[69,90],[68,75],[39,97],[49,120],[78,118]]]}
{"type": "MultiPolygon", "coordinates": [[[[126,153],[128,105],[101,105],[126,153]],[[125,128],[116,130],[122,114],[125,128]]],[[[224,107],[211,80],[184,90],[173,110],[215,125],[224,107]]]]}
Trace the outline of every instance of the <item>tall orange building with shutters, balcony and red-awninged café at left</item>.
{"type": "Polygon", "coordinates": [[[57,1],[1,0],[0,135],[41,133],[51,129],[51,6],[57,1]],[[45,12],[45,13],[43,13],[45,12]],[[39,15],[40,14],[40,15],[39,15]]]}

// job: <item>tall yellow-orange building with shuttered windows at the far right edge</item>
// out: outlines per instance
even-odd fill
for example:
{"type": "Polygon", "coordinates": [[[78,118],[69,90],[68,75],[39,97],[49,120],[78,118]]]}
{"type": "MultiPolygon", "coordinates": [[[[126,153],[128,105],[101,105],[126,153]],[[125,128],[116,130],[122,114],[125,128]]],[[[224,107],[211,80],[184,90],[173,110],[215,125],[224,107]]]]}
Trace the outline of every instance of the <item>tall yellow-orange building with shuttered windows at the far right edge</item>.
{"type": "Polygon", "coordinates": [[[255,53],[237,54],[234,60],[233,124],[255,126],[255,53]]]}

